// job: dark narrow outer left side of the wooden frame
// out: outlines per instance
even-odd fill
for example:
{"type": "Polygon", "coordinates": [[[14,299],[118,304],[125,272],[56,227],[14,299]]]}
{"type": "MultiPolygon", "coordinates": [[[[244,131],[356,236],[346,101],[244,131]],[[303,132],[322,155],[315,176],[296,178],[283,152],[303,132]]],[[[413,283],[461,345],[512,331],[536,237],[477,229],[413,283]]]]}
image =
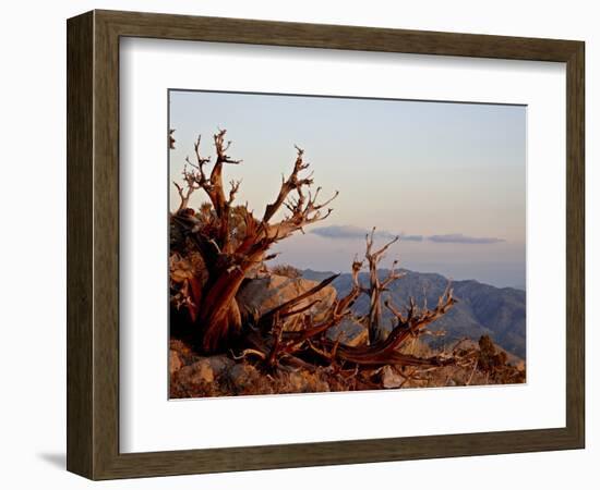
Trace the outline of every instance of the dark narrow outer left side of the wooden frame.
{"type": "Polygon", "coordinates": [[[67,468],[93,476],[93,14],[67,30],[67,468]]]}

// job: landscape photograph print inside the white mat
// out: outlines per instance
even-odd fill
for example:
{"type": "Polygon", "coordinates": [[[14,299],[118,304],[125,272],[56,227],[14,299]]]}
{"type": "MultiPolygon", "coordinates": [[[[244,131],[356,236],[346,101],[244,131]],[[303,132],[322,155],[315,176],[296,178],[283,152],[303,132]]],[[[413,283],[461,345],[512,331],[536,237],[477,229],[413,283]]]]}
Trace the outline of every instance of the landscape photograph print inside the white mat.
{"type": "Polygon", "coordinates": [[[168,99],[170,399],[526,382],[526,106],[168,99]]]}

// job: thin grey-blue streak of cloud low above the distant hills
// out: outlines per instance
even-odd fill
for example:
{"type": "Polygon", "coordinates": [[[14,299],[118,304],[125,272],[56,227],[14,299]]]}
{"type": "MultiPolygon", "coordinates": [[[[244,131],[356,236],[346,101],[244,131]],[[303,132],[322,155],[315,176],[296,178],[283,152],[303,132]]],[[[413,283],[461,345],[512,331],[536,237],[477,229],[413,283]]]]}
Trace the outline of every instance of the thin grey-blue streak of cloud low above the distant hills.
{"type": "MultiPolygon", "coordinates": [[[[370,233],[370,230],[352,225],[332,225],[332,226],[321,226],[314,230],[311,230],[311,233],[322,236],[324,238],[332,240],[355,240],[355,238],[364,238],[364,236],[370,233]]],[[[375,238],[381,240],[393,240],[396,236],[400,237],[403,242],[423,242],[425,240],[433,243],[463,243],[463,244],[477,244],[477,245],[488,245],[494,243],[504,242],[502,238],[495,237],[478,237],[478,236],[468,236],[463,233],[449,233],[445,235],[409,235],[406,233],[392,233],[387,230],[377,230],[375,231],[375,238]]]]}

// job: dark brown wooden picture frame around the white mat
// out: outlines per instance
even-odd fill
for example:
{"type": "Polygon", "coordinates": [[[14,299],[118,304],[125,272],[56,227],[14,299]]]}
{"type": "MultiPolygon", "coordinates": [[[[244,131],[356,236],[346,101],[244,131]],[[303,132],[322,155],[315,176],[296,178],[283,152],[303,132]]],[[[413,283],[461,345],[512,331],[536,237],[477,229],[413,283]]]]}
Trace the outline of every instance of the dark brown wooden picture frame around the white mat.
{"type": "Polygon", "coordinates": [[[583,41],[93,11],[68,21],[68,452],[92,479],[584,448],[583,41]],[[566,62],[566,427],[119,453],[119,38],[566,62]]]}

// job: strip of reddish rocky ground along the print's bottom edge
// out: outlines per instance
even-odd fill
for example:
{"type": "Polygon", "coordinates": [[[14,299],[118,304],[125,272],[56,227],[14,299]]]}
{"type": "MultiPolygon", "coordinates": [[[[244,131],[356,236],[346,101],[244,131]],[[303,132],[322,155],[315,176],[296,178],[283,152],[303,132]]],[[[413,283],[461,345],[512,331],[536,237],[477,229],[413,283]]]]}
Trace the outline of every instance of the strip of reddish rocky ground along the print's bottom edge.
{"type": "MultiPolygon", "coordinates": [[[[420,345],[420,348],[427,346],[420,345]]],[[[471,348],[470,346],[468,348],[471,348]]],[[[525,369],[506,365],[501,351],[477,348],[475,366],[446,366],[416,370],[383,366],[357,373],[332,366],[265,369],[250,359],[230,355],[199,356],[179,340],[169,351],[170,397],[235,396],[256,394],[315,393],[398,388],[521,383],[525,369]]]]}

